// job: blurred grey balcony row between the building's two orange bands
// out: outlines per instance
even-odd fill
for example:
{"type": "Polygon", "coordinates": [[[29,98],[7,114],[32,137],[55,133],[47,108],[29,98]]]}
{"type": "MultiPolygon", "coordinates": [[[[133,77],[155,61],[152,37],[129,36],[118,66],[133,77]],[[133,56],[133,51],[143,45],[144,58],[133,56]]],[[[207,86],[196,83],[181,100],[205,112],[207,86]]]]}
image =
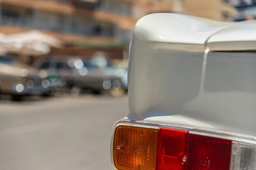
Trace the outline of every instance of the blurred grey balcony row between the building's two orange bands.
{"type": "Polygon", "coordinates": [[[6,26],[54,31],[63,34],[80,34],[81,36],[115,37],[115,26],[110,23],[95,22],[82,17],[68,20],[69,17],[52,16],[48,13],[24,16],[18,13],[7,13],[6,10],[4,12],[0,24],[6,26]]]}

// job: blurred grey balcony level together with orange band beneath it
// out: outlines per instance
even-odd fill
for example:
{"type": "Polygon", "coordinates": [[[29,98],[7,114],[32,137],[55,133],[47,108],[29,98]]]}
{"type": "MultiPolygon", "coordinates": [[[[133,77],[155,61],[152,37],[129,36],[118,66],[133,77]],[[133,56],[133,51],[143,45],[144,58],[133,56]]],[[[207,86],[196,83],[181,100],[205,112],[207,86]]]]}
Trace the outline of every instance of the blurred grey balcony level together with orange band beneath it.
{"type": "Polygon", "coordinates": [[[6,6],[2,8],[0,25],[1,32],[4,34],[37,29],[55,35],[66,42],[117,40],[116,28],[111,23],[95,21],[90,17],[76,16],[72,18],[69,15],[44,11],[14,10],[13,8],[6,8],[6,6]],[[92,37],[95,37],[95,40],[92,37]]]}

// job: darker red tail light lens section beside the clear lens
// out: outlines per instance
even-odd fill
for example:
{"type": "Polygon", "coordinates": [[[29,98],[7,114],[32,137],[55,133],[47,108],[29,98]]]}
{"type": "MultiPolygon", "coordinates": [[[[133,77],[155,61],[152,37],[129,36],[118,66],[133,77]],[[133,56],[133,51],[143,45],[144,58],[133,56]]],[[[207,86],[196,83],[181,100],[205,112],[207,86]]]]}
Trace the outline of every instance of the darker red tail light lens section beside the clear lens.
{"type": "Polygon", "coordinates": [[[231,143],[226,139],[189,134],[188,170],[229,170],[231,143]]]}

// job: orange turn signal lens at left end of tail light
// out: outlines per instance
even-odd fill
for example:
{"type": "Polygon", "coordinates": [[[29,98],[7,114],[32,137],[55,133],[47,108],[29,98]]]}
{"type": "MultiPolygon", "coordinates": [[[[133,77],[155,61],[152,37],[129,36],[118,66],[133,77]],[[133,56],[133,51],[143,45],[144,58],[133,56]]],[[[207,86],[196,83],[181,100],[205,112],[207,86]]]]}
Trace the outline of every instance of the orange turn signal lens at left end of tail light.
{"type": "Polygon", "coordinates": [[[113,161],[118,170],[155,170],[158,129],[116,127],[113,161]]]}

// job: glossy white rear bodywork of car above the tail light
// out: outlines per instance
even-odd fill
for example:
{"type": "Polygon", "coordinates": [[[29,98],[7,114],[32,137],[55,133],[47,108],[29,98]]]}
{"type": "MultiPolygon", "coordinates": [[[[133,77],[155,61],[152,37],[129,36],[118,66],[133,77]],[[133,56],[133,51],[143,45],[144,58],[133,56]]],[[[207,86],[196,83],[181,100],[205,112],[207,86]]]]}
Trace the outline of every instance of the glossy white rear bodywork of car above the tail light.
{"type": "Polygon", "coordinates": [[[143,17],[129,54],[128,118],[256,136],[256,54],[212,51],[226,41],[225,49],[233,40],[252,42],[254,34],[233,37],[252,33],[254,24],[182,14],[143,17]]]}

